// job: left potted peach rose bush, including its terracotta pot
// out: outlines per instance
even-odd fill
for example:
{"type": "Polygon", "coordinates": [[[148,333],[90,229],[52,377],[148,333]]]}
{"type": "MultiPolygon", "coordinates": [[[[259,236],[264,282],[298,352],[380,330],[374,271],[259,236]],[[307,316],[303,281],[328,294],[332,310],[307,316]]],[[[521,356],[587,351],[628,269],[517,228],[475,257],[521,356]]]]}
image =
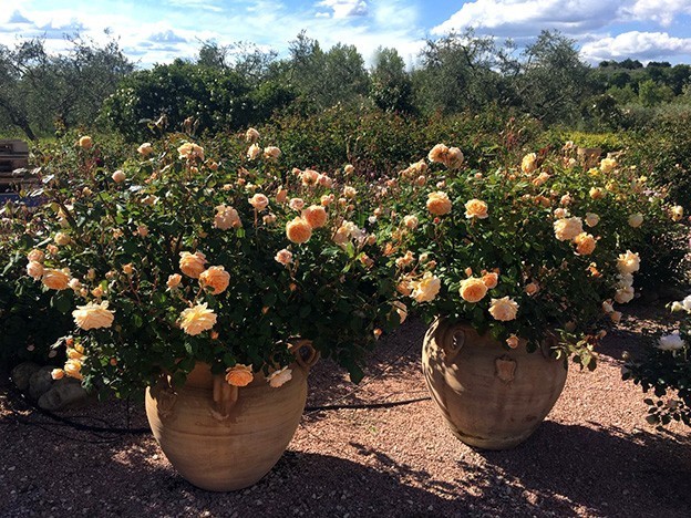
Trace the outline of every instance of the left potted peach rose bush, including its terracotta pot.
{"type": "Polygon", "coordinates": [[[254,130],[247,141],[237,159],[172,135],[114,172],[89,159],[89,141],[78,167],[45,164],[49,204],[27,231],[27,274],[75,323],[54,376],[146,388],[164,453],[213,490],[278,460],[320,354],[358,380],[405,315],[363,187],[290,170],[254,130]]]}

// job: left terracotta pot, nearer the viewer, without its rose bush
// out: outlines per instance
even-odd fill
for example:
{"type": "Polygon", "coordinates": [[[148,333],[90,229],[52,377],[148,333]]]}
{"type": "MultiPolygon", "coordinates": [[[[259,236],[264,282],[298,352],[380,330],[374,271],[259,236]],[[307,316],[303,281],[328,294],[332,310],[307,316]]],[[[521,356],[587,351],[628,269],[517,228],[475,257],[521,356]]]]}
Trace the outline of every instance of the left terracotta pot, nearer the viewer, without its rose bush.
{"type": "Polygon", "coordinates": [[[247,386],[230,386],[204,363],[175,391],[162,380],[146,390],[146,416],[161,449],[202,489],[231,491],[256,484],[298,427],[307,374],[317,358],[309,343],[301,343],[290,365],[292,379],[276,388],[257,374],[247,386]]]}

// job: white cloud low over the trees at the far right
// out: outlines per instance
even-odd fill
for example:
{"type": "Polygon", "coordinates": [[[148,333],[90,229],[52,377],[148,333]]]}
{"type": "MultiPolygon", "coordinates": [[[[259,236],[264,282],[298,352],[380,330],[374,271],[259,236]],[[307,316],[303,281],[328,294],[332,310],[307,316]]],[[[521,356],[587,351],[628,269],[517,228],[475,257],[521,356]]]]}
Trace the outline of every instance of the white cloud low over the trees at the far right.
{"type": "Polygon", "coordinates": [[[660,60],[670,55],[691,55],[691,38],[674,38],[667,32],[630,31],[585,43],[581,52],[591,62],[626,58],[660,60]]]}

